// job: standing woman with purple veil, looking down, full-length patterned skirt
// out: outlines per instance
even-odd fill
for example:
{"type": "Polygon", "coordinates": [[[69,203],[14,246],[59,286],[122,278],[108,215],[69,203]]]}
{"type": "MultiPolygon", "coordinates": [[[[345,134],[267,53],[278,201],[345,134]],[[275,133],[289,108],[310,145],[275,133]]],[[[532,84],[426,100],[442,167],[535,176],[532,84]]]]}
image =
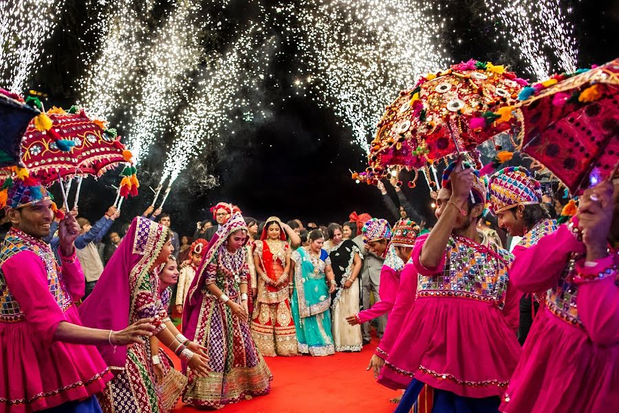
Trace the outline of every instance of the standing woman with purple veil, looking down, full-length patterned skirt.
{"type": "Polygon", "coordinates": [[[183,310],[184,332],[208,348],[207,377],[189,366],[183,401],[220,408],[270,391],[271,372],[248,324],[247,226],[240,213],[222,225],[191,283],[183,310]]]}

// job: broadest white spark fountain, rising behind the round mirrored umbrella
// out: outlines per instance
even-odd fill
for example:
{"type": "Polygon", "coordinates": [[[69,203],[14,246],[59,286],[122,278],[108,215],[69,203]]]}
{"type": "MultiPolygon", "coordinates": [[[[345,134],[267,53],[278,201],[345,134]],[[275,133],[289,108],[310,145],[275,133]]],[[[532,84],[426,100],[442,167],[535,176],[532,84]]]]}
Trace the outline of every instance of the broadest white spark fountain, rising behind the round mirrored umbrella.
{"type": "Polygon", "coordinates": [[[281,6],[283,32],[292,31],[290,41],[303,55],[294,86],[332,107],[366,151],[384,105],[420,74],[448,63],[439,46],[440,10],[428,3],[312,0],[281,6]]]}

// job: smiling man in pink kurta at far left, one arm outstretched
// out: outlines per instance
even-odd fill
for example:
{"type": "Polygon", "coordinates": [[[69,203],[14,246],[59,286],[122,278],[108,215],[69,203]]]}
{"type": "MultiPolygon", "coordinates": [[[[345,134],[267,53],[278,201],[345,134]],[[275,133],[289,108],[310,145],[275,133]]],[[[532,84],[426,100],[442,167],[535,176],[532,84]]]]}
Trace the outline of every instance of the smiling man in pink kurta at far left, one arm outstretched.
{"type": "Polygon", "coordinates": [[[43,242],[55,209],[45,188],[17,177],[3,188],[12,229],[0,249],[0,412],[100,412],[94,394],[112,376],[87,344],[127,344],[154,326],[133,335],[81,326],[74,301],[84,295],[85,279],[74,216],[59,226],[59,266],[43,242]]]}

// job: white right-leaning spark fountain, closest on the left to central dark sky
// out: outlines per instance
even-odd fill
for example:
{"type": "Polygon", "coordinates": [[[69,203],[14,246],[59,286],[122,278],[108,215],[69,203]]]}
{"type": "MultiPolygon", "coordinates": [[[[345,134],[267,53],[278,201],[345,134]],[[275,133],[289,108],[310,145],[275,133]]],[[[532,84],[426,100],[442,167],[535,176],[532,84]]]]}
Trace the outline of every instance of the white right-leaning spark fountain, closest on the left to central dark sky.
{"type": "Polygon", "coordinates": [[[234,123],[237,110],[243,118],[265,116],[258,99],[261,81],[276,44],[265,38],[261,24],[253,23],[224,54],[214,54],[200,74],[196,96],[180,115],[177,138],[168,151],[161,182],[174,182],[179,173],[197,158],[208,142],[223,144],[219,133],[234,123]],[[213,142],[216,141],[216,142],[213,142]]]}

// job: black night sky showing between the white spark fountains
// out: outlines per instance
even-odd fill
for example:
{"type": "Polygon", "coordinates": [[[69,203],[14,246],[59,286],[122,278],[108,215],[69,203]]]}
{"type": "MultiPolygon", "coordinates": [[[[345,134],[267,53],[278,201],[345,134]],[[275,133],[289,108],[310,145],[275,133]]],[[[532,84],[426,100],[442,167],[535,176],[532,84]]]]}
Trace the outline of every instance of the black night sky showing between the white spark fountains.
{"type": "MultiPolygon", "coordinates": [[[[580,67],[605,63],[619,56],[619,1],[563,3],[572,3],[574,8],[572,21],[576,25],[580,67]]],[[[454,63],[471,58],[492,61],[509,65],[510,70],[517,73],[525,67],[515,52],[489,40],[492,27],[479,18],[478,12],[484,7],[483,0],[451,1],[450,4],[444,38],[448,39],[445,47],[454,63]],[[461,6],[458,8],[454,4],[461,6]]],[[[67,5],[56,32],[45,44],[47,57],[30,83],[31,87],[48,94],[46,107],[69,107],[78,99],[75,81],[85,70],[79,54],[88,49],[89,41],[94,41],[83,33],[88,19],[92,18],[83,2],[69,0],[67,5]],[[80,42],[80,37],[85,42],[80,42]]],[[[226,42],[234,39],[243,21],[251,19],[256,12],[250,1],[232,1],[226,12],[232,22],[230,30],[219,39],[212,39],[211,44],[225,47],[226,42]]],[[[285,52],[290,56],[294,54],[294,50],[285,52]]],[[[355,210],[393,220],[385,216],[376,187],[355,184],[351,180],[349,169],[359,171],[367,166],[363,162],[364,153],[358,145],[351,144],[351,131],[342,122],[337,124],[339,119],[329,111],[328,103],[325,107],[317,107],[310,99],[283,100],[290,94],[290,89],[283,85],[291,85],[294,81],[289,72],[296,63],[292,57],[277,59],[273,65],[277,82],[266,91],[272,94],[275,103],[270,118],[239,126],[235,136],[227,139],[225,147],[200,156],[175,182],[164,210],[171,213],[173,229],[178,233],[193,233],[195,222],[208,218],[208,209],[219,200],[234,202],[241,207],[243,215],[258,219],[279,215],[283,220],[301,218],[304,222],[326,224],[343,222],[355,210]],[[208,165],[210,173],[219,176],[219,187],[209,191],[201,187],[205,170],[200,167],[201,163],[208,165]]],[[[397,92],[394,90],[394,98],[397,92]]],[[[164,140],[169,143],[172,138],[172,134],[168,134],[164,140]]],[[[125,201],[124,216],[116,226],[120,227],[130,216],[141,213],[152,199],[148,186],[154,187],[160,178],[165,142],[158,142],[151,148],[151,155],[138,173],[142,183],[140,196],[125,201]]],[[[100,218],[115,195],[114,190],[105,185],[115,182],[118,177],[113,173],[98,182],[85,181],[81,214],[91,220],[100,218]]],[[[425,185],[404,191],[422,213],[432,216],[425,185]]]]}

